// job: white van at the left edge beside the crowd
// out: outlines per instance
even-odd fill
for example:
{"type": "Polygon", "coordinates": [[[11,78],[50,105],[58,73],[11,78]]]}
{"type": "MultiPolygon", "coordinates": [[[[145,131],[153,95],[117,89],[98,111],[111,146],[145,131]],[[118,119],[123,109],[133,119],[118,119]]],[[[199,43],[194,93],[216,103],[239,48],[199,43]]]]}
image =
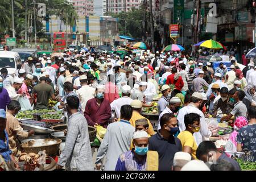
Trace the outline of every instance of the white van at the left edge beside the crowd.
{"type": "Polygon", "coordinates": [[[18,52],[0,51],[0,69],[7,68],[9,75],[14,75],[19,65],[22,65],[18,52]]]}

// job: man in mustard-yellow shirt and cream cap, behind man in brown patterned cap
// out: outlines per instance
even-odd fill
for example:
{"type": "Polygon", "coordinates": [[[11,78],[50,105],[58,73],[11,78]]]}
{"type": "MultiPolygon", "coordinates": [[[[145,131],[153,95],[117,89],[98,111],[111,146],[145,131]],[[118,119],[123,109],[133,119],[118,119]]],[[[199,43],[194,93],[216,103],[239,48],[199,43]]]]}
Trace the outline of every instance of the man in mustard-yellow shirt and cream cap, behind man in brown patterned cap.
{"type": "MultiPolygon", "coordinates": [[[[141,115],[141,110],[142,110],[142,102],[139,101],[139,100],[133,100],[131,102],[131,107],[133,107],[133,115],[131,116],[131,119],[130,119],[130,123],[132,126],[136,126],[136,121],[138,119],[147,119],[145,117],[143,117],[141,115]]],[[[150,123],[150,121],[147,119],[147,123],[148,123],[148,131],[147,133],[149,135],[154,135],[155,134],[155,131],[150,123]]]]}

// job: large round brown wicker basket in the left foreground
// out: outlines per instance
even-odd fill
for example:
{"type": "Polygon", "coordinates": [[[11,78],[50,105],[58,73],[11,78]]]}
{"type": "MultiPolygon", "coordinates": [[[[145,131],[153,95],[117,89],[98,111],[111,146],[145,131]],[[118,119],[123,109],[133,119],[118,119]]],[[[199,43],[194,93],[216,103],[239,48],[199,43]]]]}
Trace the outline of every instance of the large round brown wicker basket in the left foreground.
{"type": "Polygon", "coordinates": [[[20,145],[20,148],[22,148],[22,151],[23,152],[26,152],[27,154],[30,153],[30,152],[34,152],[35,154],[38,154],[39,151],[43,151],[45,150],[46,151],[46,154],[47,155],[54,155],[57,153],[57,151],[59,150],[59,147],[60,147],[60,143],[62,142],[61,139],[35,139],[35,140],[31,140],[29,142],[25,142],[25,143],[22,143],[20,145]],[[31,144],[31,142],[36,142],[36,140],[47,140],[47,141],[56,141],[55,144],[46,144],[46,145],[43,145],[43,146],[33,146],[31,144]]]}

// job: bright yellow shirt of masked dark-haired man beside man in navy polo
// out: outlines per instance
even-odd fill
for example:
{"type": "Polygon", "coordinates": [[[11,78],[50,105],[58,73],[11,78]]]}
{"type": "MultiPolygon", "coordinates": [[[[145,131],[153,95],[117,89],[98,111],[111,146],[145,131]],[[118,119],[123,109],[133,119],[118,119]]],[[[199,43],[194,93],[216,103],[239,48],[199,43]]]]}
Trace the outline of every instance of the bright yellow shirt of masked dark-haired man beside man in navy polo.
{"type": "Polygon", "coordinates": [[[180,134],[177,136],[177,138],[180,139],[182,150],[184,150],[185,146],[192,148],[191,155],[194,159],[196,159],[197,144],[192,133],[190,133],[189,131],[181,131],[180,134]]]}

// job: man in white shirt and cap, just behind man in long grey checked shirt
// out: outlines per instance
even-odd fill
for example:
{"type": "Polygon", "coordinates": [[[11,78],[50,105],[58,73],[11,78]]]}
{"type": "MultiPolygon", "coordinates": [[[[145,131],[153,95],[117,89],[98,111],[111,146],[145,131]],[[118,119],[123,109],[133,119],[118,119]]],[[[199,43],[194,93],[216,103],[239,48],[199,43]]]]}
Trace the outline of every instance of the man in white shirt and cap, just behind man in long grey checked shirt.
{"type": "Polygon", "coordinates": [[[87,76],[82,75],[79,79],[82,87],[76,93],[81,102],[82,113],[84,113],[87,101],[95,97],[95,89],[88,85],[87,76]]]}

